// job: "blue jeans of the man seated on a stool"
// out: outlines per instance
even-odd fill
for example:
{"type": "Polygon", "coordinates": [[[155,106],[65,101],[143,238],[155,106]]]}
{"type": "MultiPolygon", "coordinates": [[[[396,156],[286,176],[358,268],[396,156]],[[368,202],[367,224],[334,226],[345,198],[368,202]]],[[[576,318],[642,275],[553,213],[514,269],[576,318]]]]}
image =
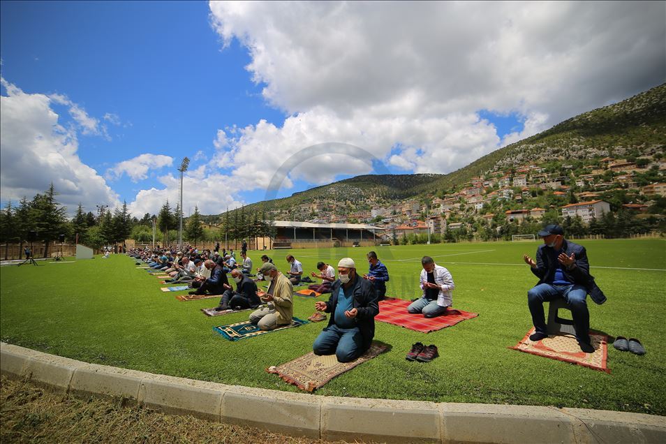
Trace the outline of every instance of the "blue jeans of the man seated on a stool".
{"type": "Polygon", "coordinates": [[[555,286],[550,283],[540,283],[527,292],[527,305],[532,314],[532,323],[535,331],[547,334],[546,320],[543,314],[543,303],[563,297],[571,310],[576,339],[579,342],[590,343],[590,312],[587,309],[587,290],[584,286],[570,284],[555,286]]]}

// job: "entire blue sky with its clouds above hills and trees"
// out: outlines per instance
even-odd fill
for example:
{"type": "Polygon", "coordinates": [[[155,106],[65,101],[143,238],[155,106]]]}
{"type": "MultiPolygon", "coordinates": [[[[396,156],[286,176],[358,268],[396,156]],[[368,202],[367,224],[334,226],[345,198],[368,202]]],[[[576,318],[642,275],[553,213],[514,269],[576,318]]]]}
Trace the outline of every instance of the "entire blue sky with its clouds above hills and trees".
{"type": "MultiPolygon", "coordinates": [[[[496,3],[2,1],[0,199],[53,182],[70,212],[154,213],[188,156],[185,212],[216,214],[311,145],[446,173],[663,82],[661,3],[496,3]],[[554,39],[557,20],[577,38],[554,39]]],[[[376,172],[362,157],[324,149],[277,195],[376,172]]]]}

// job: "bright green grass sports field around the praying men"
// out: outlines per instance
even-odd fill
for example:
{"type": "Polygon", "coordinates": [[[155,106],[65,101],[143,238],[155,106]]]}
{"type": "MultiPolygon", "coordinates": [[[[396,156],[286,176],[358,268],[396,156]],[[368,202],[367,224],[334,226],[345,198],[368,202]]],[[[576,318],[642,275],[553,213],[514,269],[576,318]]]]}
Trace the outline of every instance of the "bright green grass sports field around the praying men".
{"type": "MultiPolygon", "coordinates": [[[[375,339],[390,350],[334,378],[318,394],[447,402],[533,404],[666,415],[666,242],[580,242],[608,301],[588,298],[591,328],[635,337],[639,357],[609,346],[611,373],[528,355],[514,346],[531,327],[526,292],[537,279],[522,262],[538,242],[377,247],[391,280],[387,295],[420,295],[420,258],[433,256],[450,269],[454,307],[480,314],[454,327],[422,334],[376,323],[375,339]],[[408,362],[411,344],[435,344],[440,357],[408,362]]],[[[286,251],[268,252],[283,271],[286,251]]],[[[367,249],[291,250],[306,273],[318,260],[337,265],[350,256],[367,272],[367,249]]],[[[260,254],[251,251],[259,262],[260,254]]],[[[219,383],[297,391],[267,367],[311,350],[325,323],[225,341],[212,327],[246,320],[249,312],[209,318],[200,309],[215,299],[180,302],[159,290],[158,279],[135,269],[127,256],[39,267],[0,269],[0,336],[3,341],[116,367],[219,383]]],[[[295,297],[295,316],[307,318],[314,300],[295,297]]]]}

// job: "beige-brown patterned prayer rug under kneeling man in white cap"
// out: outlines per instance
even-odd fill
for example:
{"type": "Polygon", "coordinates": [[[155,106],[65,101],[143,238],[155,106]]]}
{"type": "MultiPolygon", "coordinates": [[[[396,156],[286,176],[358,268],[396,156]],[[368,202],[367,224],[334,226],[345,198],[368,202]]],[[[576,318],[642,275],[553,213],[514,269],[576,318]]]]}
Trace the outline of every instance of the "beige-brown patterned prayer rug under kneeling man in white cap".
{"type": "Polygon", "coordinates": [[[310,352],[293,361],[266,369],[301,390],[313,392],[336,376],[371,360],[386,350],[386,346],[373,342],[361,357],[352,362],[338,362],[335,355],[317,356],[310,352]]]}

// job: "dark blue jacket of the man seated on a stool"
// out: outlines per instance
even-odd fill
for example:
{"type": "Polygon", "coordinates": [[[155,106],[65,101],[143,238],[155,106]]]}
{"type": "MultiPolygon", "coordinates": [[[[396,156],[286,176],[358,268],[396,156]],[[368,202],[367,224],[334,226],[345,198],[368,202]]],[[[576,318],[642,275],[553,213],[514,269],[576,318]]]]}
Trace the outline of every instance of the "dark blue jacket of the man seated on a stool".
{"type": "MultiPolygon", "coordinates": [[[[577,283],[584,286],[595,303],[603,304],[606,302],[606,296],[594,282],[594,276],[590,274],[590,264],[587,260],[585,247],[565,239],[562,242],[562,249],[567,256],[571,256],[573,253],[575,257],[573,267],[562,267],[564,279],[570,283],[577,283]]],[[[554,280],[555,270],[559,265],[557,256],[559,256],[559,253],[555,249],[545,244],[539,246],[536,258],[537,267],[530,268],[532,273],[539,278],[538,284],[549,283],[554,280]]]]}

